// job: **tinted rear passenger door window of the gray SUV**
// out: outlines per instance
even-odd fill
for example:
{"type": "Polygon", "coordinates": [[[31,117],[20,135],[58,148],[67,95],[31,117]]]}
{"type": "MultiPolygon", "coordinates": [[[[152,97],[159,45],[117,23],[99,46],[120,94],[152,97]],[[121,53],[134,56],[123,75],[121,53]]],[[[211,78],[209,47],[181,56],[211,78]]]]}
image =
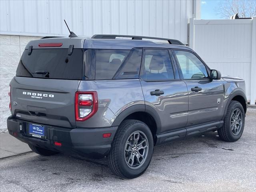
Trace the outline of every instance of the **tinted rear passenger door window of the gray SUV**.
{"type": "Polygon", "coordinates": [[[145,81],[164,81],[174,79],[172,63],[168,50],[144,50],[144,63],[141,79],[145,81]]]}

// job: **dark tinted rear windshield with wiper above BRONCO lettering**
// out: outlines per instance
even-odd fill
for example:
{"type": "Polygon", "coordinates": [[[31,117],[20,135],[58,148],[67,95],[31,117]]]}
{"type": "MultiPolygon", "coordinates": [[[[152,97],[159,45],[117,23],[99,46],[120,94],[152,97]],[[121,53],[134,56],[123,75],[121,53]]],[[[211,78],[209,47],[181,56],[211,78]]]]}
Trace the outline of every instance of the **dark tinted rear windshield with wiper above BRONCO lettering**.
{"type": "Polygon", "coordinates": [[[33,49],[24,50],[16,76],[52,79],[82,79],[83,49],[33,49]]]}

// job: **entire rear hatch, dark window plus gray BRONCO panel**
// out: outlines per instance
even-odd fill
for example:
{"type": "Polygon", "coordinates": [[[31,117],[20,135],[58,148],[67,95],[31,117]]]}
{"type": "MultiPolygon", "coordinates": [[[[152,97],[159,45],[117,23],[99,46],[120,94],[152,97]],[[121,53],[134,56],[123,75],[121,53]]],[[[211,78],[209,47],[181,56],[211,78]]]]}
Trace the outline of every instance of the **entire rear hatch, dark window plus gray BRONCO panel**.
{"type": "Polygon", "coordinates": [[[75,128],[74,97],[82,80],[83,49],[73,48],[72,54],[55,47],[30,51],[26,46],[10,83],[12,114],[37,124],[75,128]]]}

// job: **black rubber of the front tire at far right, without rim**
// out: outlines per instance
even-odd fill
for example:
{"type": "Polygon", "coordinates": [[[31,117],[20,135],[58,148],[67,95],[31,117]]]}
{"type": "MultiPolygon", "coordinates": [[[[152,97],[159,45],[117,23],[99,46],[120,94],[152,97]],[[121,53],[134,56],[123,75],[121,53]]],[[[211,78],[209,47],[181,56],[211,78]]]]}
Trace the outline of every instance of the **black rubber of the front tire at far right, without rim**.
{"type": "Polygon", "coordinates": [[[222,128],[218,129],[218,135],[224,141],[235,142],[239,140],[240,137],[242,136],[242,133],[244,131],[244,122],[245,122],[245,114],[244,114],[243,106],[241,105],[240,102],[231,101],[228,106],[228,110],[224,119],[224,124],[222,128]],[[234,134],[232,132],[232,127],[231,127],[231,120],[232,120],[231,118],[232,118],[233,112],[235,112],[236,110],[239,110],[241,112],[242,126],[240,127],[239,132],[237,134],[234,134]]]}

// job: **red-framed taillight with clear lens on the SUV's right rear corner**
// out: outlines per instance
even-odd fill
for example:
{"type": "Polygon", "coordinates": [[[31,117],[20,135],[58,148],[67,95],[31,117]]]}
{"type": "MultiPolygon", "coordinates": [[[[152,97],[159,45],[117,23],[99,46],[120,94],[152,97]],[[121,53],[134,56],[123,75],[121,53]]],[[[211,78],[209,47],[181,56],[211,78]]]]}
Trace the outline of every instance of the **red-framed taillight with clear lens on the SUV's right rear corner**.
{"type": "Polygon", "coordinates": [[[98,110],[98,94],[96,91],[76,92],[75,115],[76,121],[85,121],[98,110]]]}

